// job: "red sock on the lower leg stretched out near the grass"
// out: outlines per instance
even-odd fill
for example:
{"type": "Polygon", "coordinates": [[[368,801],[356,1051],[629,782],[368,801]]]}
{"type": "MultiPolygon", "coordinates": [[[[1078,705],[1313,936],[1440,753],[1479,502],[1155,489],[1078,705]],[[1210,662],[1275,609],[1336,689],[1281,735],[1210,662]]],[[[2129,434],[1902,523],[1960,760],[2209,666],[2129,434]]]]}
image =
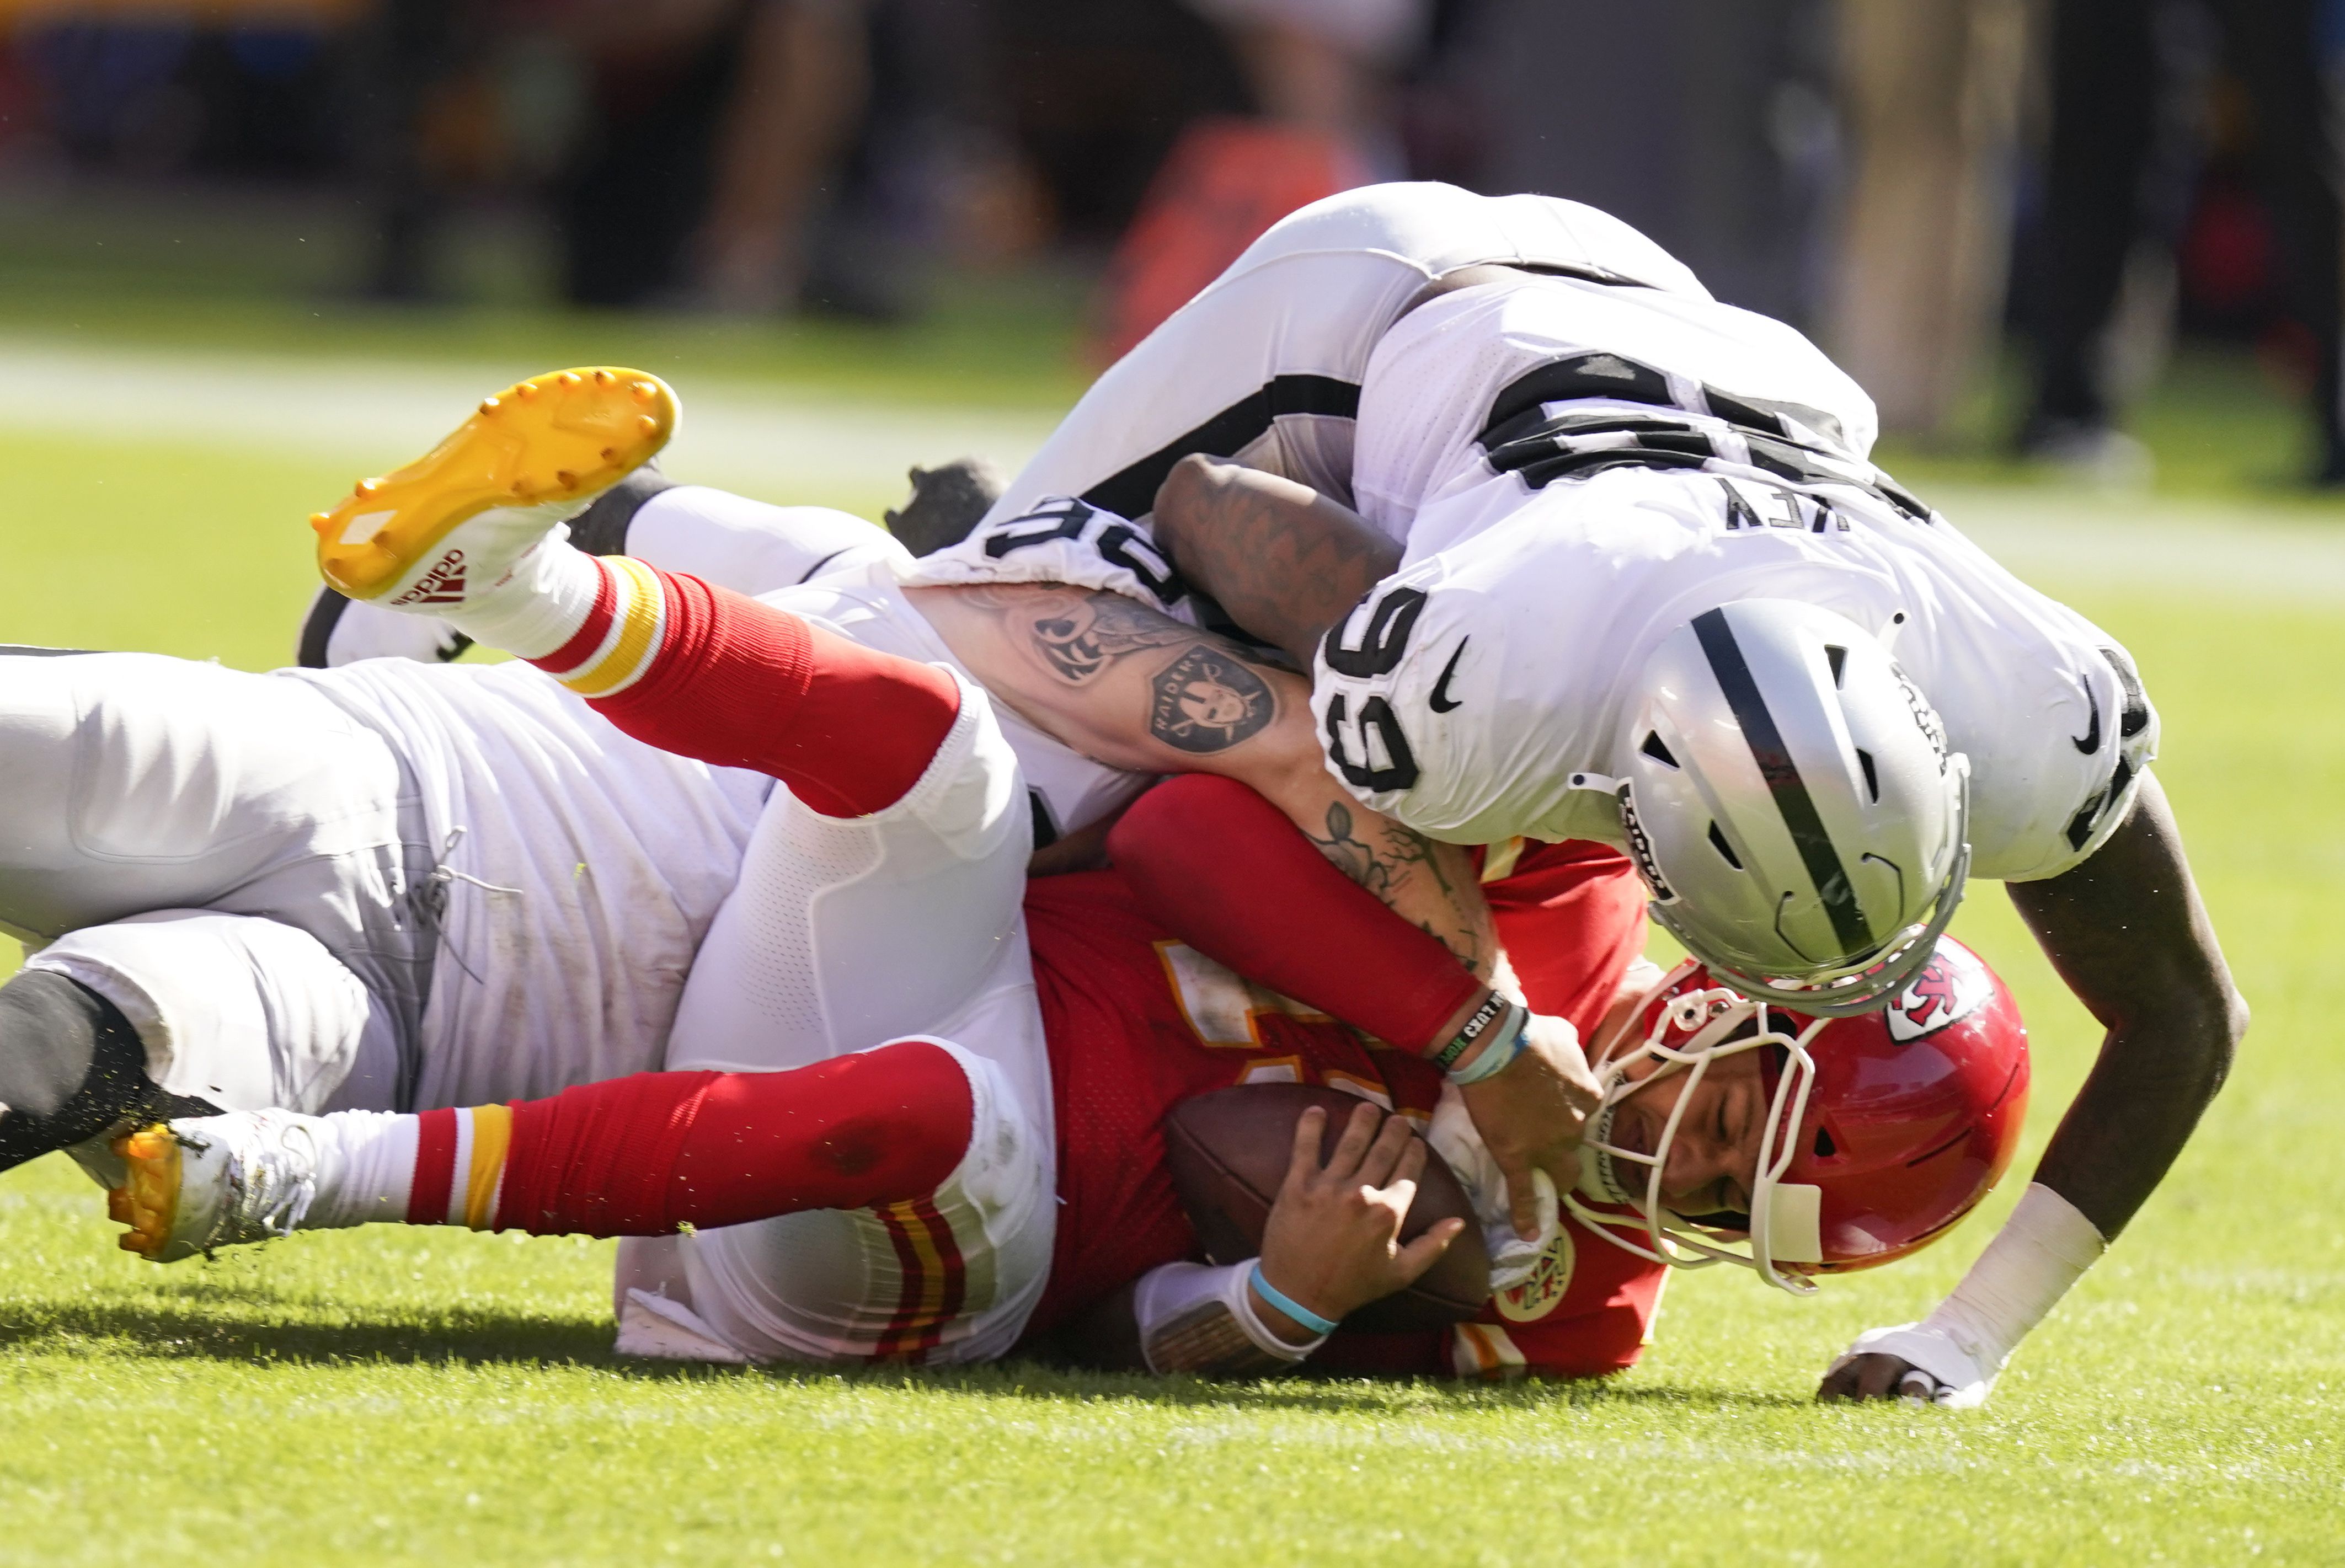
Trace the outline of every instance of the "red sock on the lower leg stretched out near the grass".
{"type": "MultiPolygon", "coordinates": [[[[929,1041],[786,1073],[638,1073],[514,1102],[478,1205],[499,1230],[666,1235],[908,1202],[968,1153],[973,1113],[968,1073],[929,1041]]],[[[422,1118],[410,1223],[448,1219],[457,1116],[422,1118]]]]}

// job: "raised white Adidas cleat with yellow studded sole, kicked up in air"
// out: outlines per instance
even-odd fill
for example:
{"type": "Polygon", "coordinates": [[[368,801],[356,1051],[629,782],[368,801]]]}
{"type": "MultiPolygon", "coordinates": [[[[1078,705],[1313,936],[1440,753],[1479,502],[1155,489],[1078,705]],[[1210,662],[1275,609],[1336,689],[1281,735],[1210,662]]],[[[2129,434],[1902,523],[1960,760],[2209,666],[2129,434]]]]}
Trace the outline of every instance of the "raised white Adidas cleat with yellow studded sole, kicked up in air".
{"type": "Polygon", "coordinates": [[[354,600],[446,612],[504,581],[556,523],[650,462],[675,394],[645,370],[549,370],[483,398],[403,469],[310,518],[317,567],[354,600]],[[464,527],[483,518],[476,527],[464,527]]]}

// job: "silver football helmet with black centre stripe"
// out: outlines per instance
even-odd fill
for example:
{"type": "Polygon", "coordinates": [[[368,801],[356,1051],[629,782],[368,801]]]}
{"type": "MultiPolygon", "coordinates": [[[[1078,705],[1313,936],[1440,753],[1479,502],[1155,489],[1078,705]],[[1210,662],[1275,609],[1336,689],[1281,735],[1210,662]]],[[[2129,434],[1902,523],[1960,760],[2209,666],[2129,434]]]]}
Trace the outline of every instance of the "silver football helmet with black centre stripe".
{"type": "Polygon", "coordinates": [[[1970,762],[1888,649],[1796,600],[1705,609],[1632,694],[1620,825],[1653,919],[1724,984],[1864,1013],[1930,961],[1970,872],[1970,762]]]}

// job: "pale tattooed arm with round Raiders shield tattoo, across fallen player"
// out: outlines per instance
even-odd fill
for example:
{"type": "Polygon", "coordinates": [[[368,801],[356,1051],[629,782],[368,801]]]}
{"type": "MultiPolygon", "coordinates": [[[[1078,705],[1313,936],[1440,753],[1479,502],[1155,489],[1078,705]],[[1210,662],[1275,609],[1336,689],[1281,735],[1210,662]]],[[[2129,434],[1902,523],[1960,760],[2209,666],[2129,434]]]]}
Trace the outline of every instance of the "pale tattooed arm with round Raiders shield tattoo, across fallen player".
{"type": "Polygon", "coordinates": [[[1487,980],[1498,952],[1466,851],[1367,811],[1334,780],[1301,675],[1119,593],[912,588],[968,673],[1044,734],[1135,773],[1222,773],[1487,980]]]}

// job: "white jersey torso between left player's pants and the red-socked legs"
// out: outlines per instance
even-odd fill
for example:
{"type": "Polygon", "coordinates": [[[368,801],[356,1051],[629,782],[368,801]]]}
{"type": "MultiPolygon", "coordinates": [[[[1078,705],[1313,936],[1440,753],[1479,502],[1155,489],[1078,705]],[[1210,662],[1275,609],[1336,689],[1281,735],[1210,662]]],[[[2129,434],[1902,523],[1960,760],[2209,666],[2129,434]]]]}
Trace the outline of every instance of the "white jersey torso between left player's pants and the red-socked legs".
{"type": "Polygon", "coordinates": [[[631,741],[525,663],[288,670],[422,792],[441,926],[415,1106],[657,1071],[774,780],[631,741]]]}

